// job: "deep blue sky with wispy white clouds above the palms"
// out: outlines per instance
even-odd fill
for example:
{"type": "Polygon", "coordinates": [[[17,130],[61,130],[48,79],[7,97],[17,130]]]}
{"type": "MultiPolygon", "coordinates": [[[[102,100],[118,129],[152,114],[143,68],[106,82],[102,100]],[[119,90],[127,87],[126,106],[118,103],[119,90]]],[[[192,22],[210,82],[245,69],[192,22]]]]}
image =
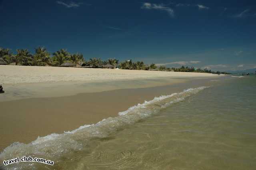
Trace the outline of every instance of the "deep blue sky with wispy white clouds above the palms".
{"type": "Polygon", "coordinates": [[[88,60],[256,68],[255,0],[0,0],[0,47],[88,60]]]}

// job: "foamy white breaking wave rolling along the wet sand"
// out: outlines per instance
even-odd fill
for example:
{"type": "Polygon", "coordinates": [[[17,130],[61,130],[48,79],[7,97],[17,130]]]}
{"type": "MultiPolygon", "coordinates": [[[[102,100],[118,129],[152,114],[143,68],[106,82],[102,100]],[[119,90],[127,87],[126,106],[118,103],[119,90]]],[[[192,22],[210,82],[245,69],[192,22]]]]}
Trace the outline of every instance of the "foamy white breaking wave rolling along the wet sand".
{"type": "MultiPolygon", "coordinates": [[[[16,158],[17,156],[38,156],[54,160],[58,164],[60,157],[67,154],[90,150],[90,140],[93,138],[106,138],[110,134],[122,130],[128,125],[146,119],[161,109],[174,103],[185,100],[187,97],[198,93],[208,87],[190,88],[181,93],[162,95],[155,97],[151,101],[130,107],[128,110],[118,113],[118,117],[109,117],[93,125],[84,125],[75,130],[67,131],[62,134],[49,134],[39,137],[29,144],[14,142],[0,153],[0,162],[16,158]]],[[[0,169],[2,167],[0,166],[0,169]]],[[[27,169],[31,168],[29,162],[19,162],[3,168],[8,169],[27,169]]]]}

